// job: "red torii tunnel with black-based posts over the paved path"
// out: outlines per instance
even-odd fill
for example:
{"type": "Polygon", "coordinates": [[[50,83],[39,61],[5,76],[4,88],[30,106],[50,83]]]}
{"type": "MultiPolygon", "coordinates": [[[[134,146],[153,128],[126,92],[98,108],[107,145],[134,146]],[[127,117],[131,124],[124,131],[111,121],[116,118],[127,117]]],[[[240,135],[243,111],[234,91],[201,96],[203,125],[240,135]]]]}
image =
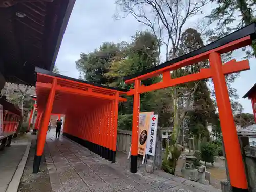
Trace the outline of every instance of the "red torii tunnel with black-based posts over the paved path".
{"type": "Polygon", "coordinates": [[[39,171],[51,114],[65,114],[63,135],[115,162],[118,103],[127,90],[73,79],[36,68],[37,123],[33,173],[39,171]]]}

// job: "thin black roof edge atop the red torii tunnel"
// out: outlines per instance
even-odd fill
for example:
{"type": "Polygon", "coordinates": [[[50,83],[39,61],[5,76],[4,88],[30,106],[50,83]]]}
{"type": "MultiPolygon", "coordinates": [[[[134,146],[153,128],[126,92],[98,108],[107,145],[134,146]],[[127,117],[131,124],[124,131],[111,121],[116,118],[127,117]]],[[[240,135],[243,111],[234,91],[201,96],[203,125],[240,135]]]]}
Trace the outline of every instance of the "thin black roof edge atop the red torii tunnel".
{"type": "Polygon", "coordinates": [[[45,70],[45,69],[41,69],[41,68],[38,68],[38,67],[35,68],[35,72],[42,73],[42,74],[45,74],[45,75],[51,75],[53,77],[59,77],[59,78],[62,78],[62,79],[68,79],[68,80],[75,81],[75,82],[81,82],[81,83],[85,83],[85,84],[90,84],[91,86],[96,86],[96,87],[101,87],[101,88],[106,88],[106,89],[112,89],[112,90],[122,91],[122,92],[129,91],[127,89],[109,87],[109,86],[104,86],[102,84],[97,84],[97,83],[92,83],[92,82],[88,82],[88,81],[84,81],[84,80],[80,80],[80,79],[75,79],[75,78],[72,78],[72,77],[67,77],[65,75],[60,75],[60,74],[57,74],[57,73],[53,73],[51,71],[48,71],[48,70],[45,70]]]}

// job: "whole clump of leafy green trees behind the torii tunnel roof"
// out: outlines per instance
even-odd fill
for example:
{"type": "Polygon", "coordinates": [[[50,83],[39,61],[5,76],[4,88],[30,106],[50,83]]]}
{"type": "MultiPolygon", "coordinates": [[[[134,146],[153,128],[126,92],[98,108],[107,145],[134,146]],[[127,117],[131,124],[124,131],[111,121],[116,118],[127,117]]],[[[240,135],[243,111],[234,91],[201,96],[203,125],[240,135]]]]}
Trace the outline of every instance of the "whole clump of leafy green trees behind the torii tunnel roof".
{"type": "MultiPolygon", "coordinates": [[[[154,67],[158,62],[157,39],[150,32],[139,31],[131,40],[131,43],[120,44],[105,42],[92,53],[81,53],[76,62],[81,78],[89,82],[130,89],[131,86],[124,83],[123,76],[154,67]]],[[[144,80],[141,84],[148,85],[158,81],[159,78],[153,78],[144,80]]],[[[133,98],[126,98],[127,102],[120,103],[119,112],[132,114],[133,98]]],[[[154,92],[141,94],[140,99],[141,111],[156,110],[159,102],[155,100],[154,92]]],[[[130,117],[131,115],[120,116],[120,129],[131,129],[130,117]]]]}

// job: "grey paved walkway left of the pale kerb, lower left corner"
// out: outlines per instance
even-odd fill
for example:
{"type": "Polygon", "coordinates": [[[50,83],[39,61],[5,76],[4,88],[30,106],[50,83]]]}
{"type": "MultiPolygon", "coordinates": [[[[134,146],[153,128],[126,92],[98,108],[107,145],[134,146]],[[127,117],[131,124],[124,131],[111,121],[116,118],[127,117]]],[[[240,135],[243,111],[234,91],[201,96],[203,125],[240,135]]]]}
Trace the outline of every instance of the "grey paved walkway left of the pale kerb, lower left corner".
{"type": "Polygon", "coordinates": [[[20,160],[26,151],[27,140],[15,140],[11,142],[11,147],[5,147],[0,151],[0,191],[7,190],[13,175],[19,165],[20,160]]]}

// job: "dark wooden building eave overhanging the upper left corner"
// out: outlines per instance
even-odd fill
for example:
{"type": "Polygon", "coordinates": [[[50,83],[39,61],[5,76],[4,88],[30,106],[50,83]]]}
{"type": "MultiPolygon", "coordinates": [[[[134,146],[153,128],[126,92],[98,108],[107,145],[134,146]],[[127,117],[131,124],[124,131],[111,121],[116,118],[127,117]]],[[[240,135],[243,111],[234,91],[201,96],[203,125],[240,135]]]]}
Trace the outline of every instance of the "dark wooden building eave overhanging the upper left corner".
{"type": "Polygon", "coordinates": [[[74,3],[24,0],[0,6],[0,71],[7,82],[35,85],[35,67],[53,70],[74,3]]]}

